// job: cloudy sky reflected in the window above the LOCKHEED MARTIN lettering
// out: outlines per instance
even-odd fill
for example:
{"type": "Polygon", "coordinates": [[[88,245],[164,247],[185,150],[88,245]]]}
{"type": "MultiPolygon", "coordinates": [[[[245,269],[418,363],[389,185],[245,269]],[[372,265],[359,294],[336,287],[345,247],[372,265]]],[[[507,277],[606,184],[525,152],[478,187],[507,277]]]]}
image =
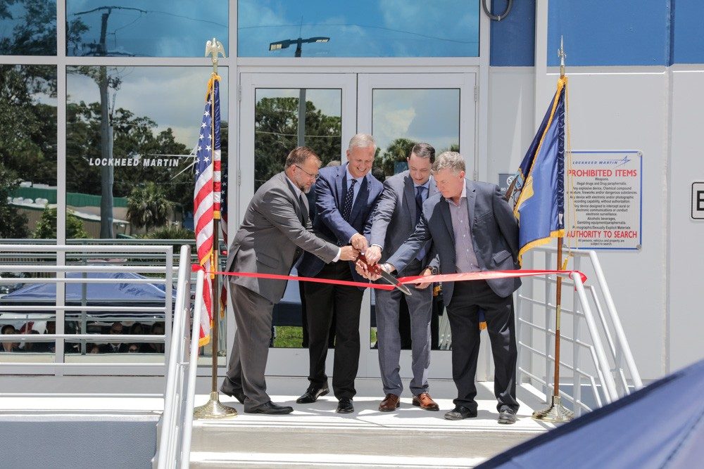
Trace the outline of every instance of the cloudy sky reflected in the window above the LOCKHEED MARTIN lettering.
{"type": "MultiPolygon", "coordinates": [[[[98,85],[93,79],[68,68],[66,92],[69,103],[99,103],[98,85]]],[[[120,89],[110,89],[110,103],[134,115],[154,120],[154,133],[171,127],[176,141],[192,148],[198,141],[206,88],[212,67],[108,67],[108,73],[122,80],[120,89]]],[[[220,119],[227,122],[227,68],[220,75],[220,119]]]]}

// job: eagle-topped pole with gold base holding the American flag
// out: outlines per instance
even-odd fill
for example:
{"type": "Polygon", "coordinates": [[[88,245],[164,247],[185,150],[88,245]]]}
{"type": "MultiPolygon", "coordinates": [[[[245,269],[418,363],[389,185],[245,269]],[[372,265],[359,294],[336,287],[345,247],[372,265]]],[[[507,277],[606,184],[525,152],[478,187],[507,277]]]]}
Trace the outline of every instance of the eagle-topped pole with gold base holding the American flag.
{"type": "MultiPolygon", "coordinates": [[[[206,57],[211,56],[213,60],[213,88],[210,90],[210,116],[213,125],[210,126],[210,145],[212,146],[213,161],[213,195],[215,196],[215,207],[213,210],[213,260],[210,266],[214,271],[218,270],[218,254],[220,252],[220,160],[215,158],[215,80],[218,79],[218,53],[225,57],[225,49],[215,37],[212,41],[206,42],[206,57]],[[217,195],[216,195],[217,194],[217,195]]],[[[218,329],[220,328],[220,300],[219,278],[215,274],[210,274],[210,281],[213,285],[213,326],[210,328],[210,346],[213,350],[213,361],[210,368],[210,399],[206,404],[196,407],[193,410],[194,418],[225,418],[237,416],[237,410],[220,403],[218,396],[218,329]]]]}

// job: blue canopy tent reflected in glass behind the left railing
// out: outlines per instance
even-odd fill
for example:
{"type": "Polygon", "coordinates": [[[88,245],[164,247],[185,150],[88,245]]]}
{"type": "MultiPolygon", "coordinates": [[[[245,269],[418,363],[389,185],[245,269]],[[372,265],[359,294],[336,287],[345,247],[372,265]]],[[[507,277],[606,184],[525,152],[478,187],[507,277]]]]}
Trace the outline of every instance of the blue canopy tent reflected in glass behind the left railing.
{"type": "MultiPolygon", "coordinates": [[[[83,285],[86,285],[88,306],[120,306],[132,304],[144,307],[163,307],[165,302],[165,287],[158,283],[130,283],[132,279],[148,278],[139,274],[122,272],[69,272],[67,278],[118,278],[120,283],[66,283],[65,303],[67,305],[81,304],[83,285]]],[[[175,292],[171,290],[175,300],[175,292]]],[[[56,283],[32,283],[15,290],[0,298],[0,304],[56,304],[56,283]]]]}

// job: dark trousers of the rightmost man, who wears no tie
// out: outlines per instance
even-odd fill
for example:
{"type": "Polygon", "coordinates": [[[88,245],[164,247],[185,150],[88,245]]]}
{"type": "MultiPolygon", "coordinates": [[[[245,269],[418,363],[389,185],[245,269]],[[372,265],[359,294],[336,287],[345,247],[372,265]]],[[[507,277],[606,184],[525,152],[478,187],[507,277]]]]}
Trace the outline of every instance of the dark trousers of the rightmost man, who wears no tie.
{"type": "Polygon", "coordinates": [[[513,295],[500,297],[486,281],[455,282],[448,304],[452,333],[452,378],[457,386],[455,405],[477,410],[477,374],[479,356],[479,309],[484,310],[486,329],[494,355],[494,395],[498,404],[518,410],[516,400],[516,333],[513,295]]]}

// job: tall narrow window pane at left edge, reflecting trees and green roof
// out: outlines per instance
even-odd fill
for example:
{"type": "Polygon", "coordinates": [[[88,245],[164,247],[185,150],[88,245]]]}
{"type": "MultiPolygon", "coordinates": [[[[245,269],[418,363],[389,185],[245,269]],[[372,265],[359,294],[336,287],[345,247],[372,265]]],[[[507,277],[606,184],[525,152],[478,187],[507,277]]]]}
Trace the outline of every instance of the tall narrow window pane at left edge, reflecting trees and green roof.
{"type": "Polygon", "coordinates": [[[56,238],[54,66],[0,65],[0,220],[0,238],[56,238]]]}

